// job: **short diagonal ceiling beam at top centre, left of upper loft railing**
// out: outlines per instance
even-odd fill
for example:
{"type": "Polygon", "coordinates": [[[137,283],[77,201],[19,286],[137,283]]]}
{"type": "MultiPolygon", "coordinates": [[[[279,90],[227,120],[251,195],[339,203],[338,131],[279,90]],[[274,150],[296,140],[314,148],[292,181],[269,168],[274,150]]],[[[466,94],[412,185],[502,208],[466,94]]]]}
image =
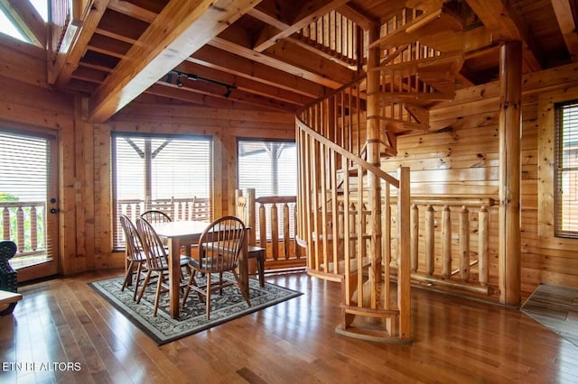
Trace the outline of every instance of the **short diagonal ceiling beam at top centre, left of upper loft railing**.
{"type": "MultiPolygon", "coordinates": [[[[263,52],[270,47],[273,47],[277,42],[284,38],[291,36],[294,32],[298,32],[303,27],[313,23],[318,18],[325,14],[329,14],[340,5],[345,5],[349,0],[316,0],[304,2],[299,14],[288,27],[281,29],[279,25],[275,24],[276,31],[272,33],[270,28],[264,28],[261,35],[256,38],[255,46],[252,47],[256,52],[263,52]]],[[[269,14],[270,17],[274,15],[269,14]]]]}

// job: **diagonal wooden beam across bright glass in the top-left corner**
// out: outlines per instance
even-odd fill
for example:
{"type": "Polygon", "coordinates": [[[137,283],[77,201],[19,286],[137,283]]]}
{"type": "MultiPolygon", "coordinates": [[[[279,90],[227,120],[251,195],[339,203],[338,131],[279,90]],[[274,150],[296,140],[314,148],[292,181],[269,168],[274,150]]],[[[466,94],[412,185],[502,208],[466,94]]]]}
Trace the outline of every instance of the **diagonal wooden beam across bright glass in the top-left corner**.
{"type": "Polygon", "coordinates": [[[46,48],[46,23],[27,0],[0,0],[0,5],[34,45],[46,48]]]}

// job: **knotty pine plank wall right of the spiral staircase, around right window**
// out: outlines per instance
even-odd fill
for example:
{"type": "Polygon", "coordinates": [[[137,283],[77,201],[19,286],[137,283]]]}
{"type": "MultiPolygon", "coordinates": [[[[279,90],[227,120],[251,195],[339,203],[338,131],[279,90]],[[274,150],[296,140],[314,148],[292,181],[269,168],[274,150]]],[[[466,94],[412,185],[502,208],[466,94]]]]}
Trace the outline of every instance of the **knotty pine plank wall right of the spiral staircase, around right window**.
{"type": "MultiPolygon", "coordinates": [[[[521,257],[523,296],[539,283],[578,287],[578,240],[553,234],[553,103],[578,98],[578,66],[522,79],[521,257]]],[[[430,112],[429,133],[400,137],[393,172],[412,170],[412,194],[499,199],[499,83],[468,87],[430,112]]],[[[498,222],[490,220],[489,268],[498,266],[498,222]]],[[[424,239],[420,239],[424,241],[424,239]]]]}

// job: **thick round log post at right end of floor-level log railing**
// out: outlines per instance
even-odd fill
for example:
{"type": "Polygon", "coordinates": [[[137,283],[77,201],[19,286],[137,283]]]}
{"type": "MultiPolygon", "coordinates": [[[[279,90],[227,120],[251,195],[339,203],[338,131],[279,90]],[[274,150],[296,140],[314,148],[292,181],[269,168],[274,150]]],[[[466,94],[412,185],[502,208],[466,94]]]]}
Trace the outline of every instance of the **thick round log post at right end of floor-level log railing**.
{"type": "Polygon", "coordinates": [[[499,301],[520,305],[520,137],[522,126],[522,43],[500,50],[499,84],[499,301]]]}

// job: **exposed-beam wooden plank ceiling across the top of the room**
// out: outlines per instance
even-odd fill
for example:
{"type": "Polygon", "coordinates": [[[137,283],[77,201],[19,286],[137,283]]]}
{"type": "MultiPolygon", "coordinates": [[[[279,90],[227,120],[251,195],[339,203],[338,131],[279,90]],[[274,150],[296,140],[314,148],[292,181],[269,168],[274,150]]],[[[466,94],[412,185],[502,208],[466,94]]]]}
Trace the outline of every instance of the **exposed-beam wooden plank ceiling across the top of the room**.
{"type": "Polygon", "coordinates": [[[442,5],[468,18],[464,32],[432,36],[464,50],[459,87],[498,77],[501,41],[523,41],[525,72],[570,63],[578,54],[574,0],[94,0],[49,78],[86,96],[93,122],[138,97],[294,112],[357,71],[304,47],[295,32],[331,10],[367,29],[406,6],[427,12],[442,5]],[[194,76],[168,76],[173,69],[194,76]]]}

